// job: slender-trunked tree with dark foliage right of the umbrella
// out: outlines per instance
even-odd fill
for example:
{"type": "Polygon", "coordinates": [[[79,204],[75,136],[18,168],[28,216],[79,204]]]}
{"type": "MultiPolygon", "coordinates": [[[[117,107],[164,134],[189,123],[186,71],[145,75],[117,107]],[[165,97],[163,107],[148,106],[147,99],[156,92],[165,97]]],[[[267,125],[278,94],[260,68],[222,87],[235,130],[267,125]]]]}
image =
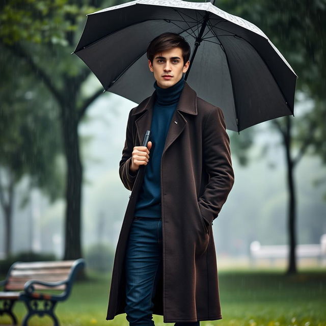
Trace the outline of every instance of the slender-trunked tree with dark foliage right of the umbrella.
{"type": "MultiPolygon", "coordinates": [[[[299,78],[296,90],[301,91],[314,102],[314,109],[293,117],[282,117],[271,121],[271,126],[282,138],[287,162],[288,232],[289,261],[287,273],[296,273],[295,261],[295,222],[296,191],[294,169],[302,157],[310,150],[326,161],[324,144],[326,115],[326,97],[324,93],[326,65],[322,40],[326,36],[326,25],[323,21],[326,11],[325,0],[293,0],[270,2],[221,0],[221,8],[241,16],[256,25],[280,49],[299,78]],[[296,149],[294,153],[293,149],[296,149]]],[[[294,111],[295,112],[295,111],[294,111]]],[[[241,134],[240,134],[241,136],[241,134]]],[[[235,140],[235,137],[232,138],[235,140]]],[[[243,143],[243,142],[242,142],[243,143]]],[[[249,147],[248,142],[244,142],[249,147]]],[[[246,156],[241,152],[241,159],[246,156]]]]}

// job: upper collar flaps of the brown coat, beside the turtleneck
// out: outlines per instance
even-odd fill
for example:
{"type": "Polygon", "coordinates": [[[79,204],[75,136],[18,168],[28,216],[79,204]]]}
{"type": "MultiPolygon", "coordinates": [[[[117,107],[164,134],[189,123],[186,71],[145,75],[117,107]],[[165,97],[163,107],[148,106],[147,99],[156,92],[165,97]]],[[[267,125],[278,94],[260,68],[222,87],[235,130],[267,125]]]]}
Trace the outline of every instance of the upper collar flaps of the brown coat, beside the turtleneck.
{"type": "MultiPolygon", "coordinates": [[[[180,99],[177,104],[176,110],[182,111],[188,114],[197,115],[197,93],[193,90],[185,81],[183,89],[180,94],[180,99]]],[[[137,107],[134,108],[133,115],[137,115],[145,110],[153,108],[155,102],[155,91],[151,96],[143,100],[137,107]]]]}

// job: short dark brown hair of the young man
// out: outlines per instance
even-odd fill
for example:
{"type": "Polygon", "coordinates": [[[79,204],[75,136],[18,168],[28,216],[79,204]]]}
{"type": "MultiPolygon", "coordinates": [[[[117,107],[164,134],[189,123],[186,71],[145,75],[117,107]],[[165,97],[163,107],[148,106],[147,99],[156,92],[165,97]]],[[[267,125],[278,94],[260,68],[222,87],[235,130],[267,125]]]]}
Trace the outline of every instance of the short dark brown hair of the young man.
{"type": "Polygon", "coordinates": [[[190,57],[190,45],[182,36],[176,33],[167,32],[156,36],[148,45],[147,58],[153,64],[153,59],[156,53],[167,51],[174,47],[181,48],[183,65],[185,65],[190,57]]]}

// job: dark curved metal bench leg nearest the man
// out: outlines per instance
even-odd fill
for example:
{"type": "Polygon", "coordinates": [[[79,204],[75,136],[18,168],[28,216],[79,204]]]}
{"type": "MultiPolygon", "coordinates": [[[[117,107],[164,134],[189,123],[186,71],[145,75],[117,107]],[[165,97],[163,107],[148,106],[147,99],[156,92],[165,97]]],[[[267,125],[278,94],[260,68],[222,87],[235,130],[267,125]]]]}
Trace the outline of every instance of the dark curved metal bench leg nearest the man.
{"type": "Polygon", "coordinates": [[[39,315],[40,317],[48,315],[53,320],[53,326],[59,326],[59,320],[54,312],[57,301],[44,300],[44,309],[39,308],[40,301],[41,300],[34,299],[31,301],[24,301],[28,312],[24,316],[21,325],[28,326],[28,320],[34,315],[39,315]]]}

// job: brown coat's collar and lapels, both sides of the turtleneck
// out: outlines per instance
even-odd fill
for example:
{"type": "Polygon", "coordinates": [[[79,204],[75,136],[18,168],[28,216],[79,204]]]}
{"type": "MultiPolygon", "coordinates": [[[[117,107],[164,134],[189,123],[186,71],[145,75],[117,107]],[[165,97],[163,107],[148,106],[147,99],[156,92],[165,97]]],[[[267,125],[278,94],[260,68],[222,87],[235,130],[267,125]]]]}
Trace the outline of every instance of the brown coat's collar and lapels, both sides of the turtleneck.
{"type": "MultiPolygon", "coordinates": [[[[137,128],[137,135],[139,139],[139,143],[142,145],[144,135],[146,130],[150,130],[152,124],[152,115],[153,115],[153,105],[155,103],[155,91],[152,95],[146,98],[143,102],[141,102],[135,109],[132,115],[138,115],[142,112],[139,118],[136,118],[135,125],[137,128]]],[[[163,149],[162,155],[168,149],[169,146],[179,137],[185,125],[187,123],[186,118],[182,113],[197,115],[197,94],[196,92],[184,82],[184,87],[180,94],[179,102],[176,107],[176,110],[172,116],[171,123],[169,126],[169,131],[167,134],[167,139],[165,142],[165,146],[163,149]]]]}

